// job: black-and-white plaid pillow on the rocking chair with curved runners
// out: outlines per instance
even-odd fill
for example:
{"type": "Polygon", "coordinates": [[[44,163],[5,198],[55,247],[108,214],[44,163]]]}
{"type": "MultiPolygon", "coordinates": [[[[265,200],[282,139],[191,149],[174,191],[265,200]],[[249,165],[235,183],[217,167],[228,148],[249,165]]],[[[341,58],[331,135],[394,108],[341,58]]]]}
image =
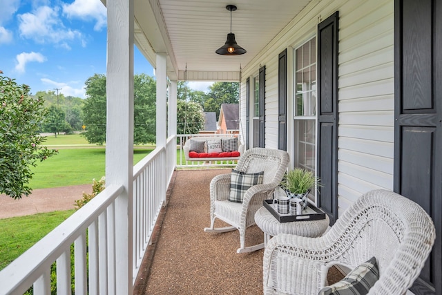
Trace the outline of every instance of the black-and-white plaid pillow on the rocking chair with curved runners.
{"type": "Polygon", "coordinates": [[[232,169],[230,175],[230,202],[242,203],[244,193],[256,184],[262,184],[264,171],[258,173],[245,173],[232,169]]]}

